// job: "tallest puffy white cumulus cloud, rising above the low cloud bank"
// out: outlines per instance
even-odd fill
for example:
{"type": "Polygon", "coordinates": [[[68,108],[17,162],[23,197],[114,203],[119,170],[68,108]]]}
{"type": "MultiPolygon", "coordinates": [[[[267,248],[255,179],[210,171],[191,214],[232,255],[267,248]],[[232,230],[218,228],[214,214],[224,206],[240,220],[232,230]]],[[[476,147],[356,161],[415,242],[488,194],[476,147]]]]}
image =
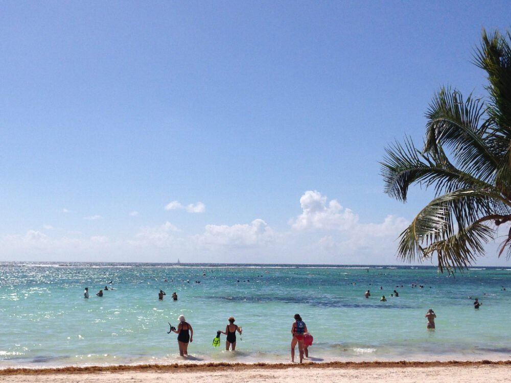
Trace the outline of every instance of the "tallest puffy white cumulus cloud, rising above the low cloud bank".
{"type": "Polygon", "coordinates": [[[300,198],[302,213],[291,221],[296,230],[323,229],[349,230],[359,218],[350,209],[343,207],[336,200],[327,205],[327,197],[321,196],[317,190],[308,190],[300,198]]]}

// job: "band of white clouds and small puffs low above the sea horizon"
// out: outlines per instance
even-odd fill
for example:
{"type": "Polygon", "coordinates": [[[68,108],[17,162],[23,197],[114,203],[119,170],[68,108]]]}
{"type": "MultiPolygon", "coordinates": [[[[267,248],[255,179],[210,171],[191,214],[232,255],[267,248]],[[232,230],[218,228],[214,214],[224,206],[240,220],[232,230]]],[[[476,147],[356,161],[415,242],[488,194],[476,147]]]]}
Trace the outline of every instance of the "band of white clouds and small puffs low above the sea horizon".
{"type": "MultiPolygon", "coordinates": [[[[395,263],[395,240],[408,225],[407,220],[389,215],[381,223],[361,223],[355,212],[317,190],[300,198],[301,213],[288,221],[286,230],[255,218],[234,225],[207,224],[201,233],[187,233],[170,221],[138,228],[129,238],[80,233],[53,234],[52,225],[43,230],[0,237],[0,256],[4,260],[153,261],[173,262],[248,262],[313,264],[373,264],[366,257],[378,252],[382,264],[395,263]]],[[[201,202],[182,205],[170,202],[165,210],[203,212],[201,202]]],[[[67,210],[66,210],[67,211],[67,210]]],[[[132,211],[136,217],[140,212],[132,211]]],[[[89,221],[105,220],[100,215],[89,221]]]]}

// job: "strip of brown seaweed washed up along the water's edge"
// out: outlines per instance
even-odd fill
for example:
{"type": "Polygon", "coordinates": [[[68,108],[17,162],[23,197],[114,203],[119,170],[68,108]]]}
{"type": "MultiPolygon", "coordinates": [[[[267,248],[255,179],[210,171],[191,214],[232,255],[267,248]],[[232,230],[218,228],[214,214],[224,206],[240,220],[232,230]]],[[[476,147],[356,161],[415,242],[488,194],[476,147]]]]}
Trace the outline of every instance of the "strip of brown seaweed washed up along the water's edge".
{"type": "Polygon", "coordinates": [[[376,361],[376,362],[306,362],[299,363],[173,363],[111,366],[68,366],[54,368],[0,368],[0,376],[15,375],[60,375],[94,373],[142,373],[142,372],[204,372],[204,371],[246,371],[246,370],[286,370],[286,369],[414,369],[447,367],[501,366],[511,369],[511,360],[502,361],[376,361]]]}

